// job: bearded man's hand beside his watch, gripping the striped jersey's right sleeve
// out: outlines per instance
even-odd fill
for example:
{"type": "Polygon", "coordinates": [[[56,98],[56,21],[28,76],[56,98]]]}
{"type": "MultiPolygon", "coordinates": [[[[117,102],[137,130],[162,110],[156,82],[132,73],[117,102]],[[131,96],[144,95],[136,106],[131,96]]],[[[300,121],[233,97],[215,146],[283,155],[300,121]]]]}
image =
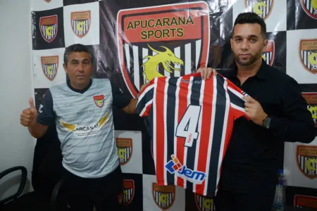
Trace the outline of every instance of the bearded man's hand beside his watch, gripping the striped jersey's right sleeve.
{"type": "Polygon", "coordinates": [[[268,116],[261,104],[256,101],[254,98],[251,98],[250,96],[244,96],[244,100],[246,101],[244,103],[245,106],[245,113],[250,119],[255,123],[259,125],[263,125],[263,120],[268,116]]]}

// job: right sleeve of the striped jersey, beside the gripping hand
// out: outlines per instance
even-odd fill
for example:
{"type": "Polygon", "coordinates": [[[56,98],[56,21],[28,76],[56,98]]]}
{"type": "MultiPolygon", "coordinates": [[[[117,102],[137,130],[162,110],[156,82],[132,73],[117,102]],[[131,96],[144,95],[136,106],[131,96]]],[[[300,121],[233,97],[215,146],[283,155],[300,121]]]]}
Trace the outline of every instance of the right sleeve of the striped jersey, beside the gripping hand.
{"type": "MultiPolygon", "coordinates": [[[[247,94],[235,84],[230,82],[230,80],[226,79],[226,81],[228,82],[227,90],[230,98],[230,107],[233,110],[235,118],[237,119],[242,116],[247,117],[247,115],[245,115],[245,101],[243,99],[243,97],[247,96],[247,94]]],[[[247,119],[249,119],[249,117],[247,117],[247,119]]]]}

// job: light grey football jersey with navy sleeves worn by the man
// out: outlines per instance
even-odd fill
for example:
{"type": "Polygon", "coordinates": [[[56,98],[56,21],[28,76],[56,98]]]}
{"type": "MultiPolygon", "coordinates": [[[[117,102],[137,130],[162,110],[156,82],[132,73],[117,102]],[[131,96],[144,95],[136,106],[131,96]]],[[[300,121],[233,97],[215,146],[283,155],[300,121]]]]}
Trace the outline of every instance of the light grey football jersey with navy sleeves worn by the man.
{"type": "Polygon", "coordinates": [[[123,108],[130,98],[113,89],[108,79],[92,79],[83,92],[58,84],[39,107],[38,122],[56,124],[63,167],[79,177],[104,177],[118,167],[112,105],[123,108]]]}

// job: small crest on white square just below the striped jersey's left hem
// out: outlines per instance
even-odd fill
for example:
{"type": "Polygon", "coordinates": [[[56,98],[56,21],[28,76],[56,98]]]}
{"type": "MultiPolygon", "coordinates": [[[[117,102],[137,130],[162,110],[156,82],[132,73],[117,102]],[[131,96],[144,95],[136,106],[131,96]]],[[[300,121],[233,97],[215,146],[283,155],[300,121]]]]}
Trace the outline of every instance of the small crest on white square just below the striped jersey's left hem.
{"type": "Polygon", "coordinates": [[[168,210],[175,201],[175,186],[159,186],[158,184],[153,183],[152,194],[156,205],[162,210],[168,210]]]}

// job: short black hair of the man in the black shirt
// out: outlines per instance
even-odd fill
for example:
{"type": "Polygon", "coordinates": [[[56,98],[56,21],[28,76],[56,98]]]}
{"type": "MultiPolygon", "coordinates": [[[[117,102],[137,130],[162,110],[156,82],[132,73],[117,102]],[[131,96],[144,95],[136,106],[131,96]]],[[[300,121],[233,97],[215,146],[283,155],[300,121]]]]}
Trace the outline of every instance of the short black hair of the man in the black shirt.
{"type": "MultiPolygon", "coordinates": [[[[235,25],[237,24],[245,24],[245,23],[257,23],[261,26],[261,34],[263,39],[266,39],[266,23],[263,18],[261,18],[256,13],[240,13],[235,19],[235,24],[233,25],[233,29],[235,29],[235,25]]],[[[233,35],[233,32],[232,32],[233,35]]]]}

